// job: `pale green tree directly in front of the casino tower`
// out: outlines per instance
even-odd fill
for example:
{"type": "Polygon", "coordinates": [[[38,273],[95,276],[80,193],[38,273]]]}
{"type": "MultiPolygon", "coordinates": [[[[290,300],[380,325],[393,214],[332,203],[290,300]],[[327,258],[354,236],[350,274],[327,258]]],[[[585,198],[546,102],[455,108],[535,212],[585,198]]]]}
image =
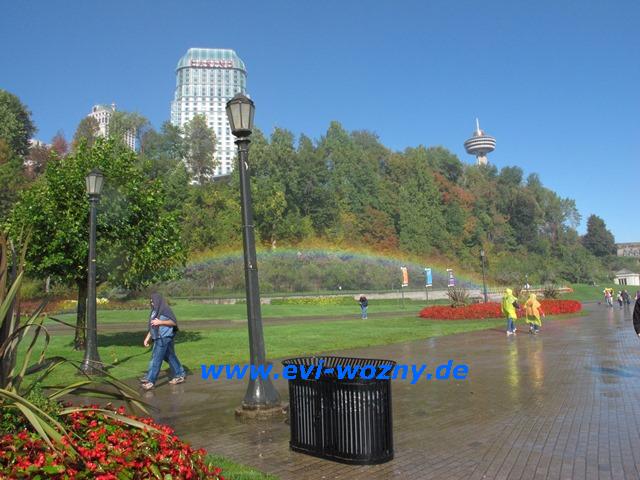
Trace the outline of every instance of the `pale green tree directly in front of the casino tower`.
{"type": "Polygon", "coordinates": [[[216,135],[207,126],[207,117],[196,115],[184,126],[184,144],[187,166],[194,179],[204,185],[216,167],[216,135]]]}

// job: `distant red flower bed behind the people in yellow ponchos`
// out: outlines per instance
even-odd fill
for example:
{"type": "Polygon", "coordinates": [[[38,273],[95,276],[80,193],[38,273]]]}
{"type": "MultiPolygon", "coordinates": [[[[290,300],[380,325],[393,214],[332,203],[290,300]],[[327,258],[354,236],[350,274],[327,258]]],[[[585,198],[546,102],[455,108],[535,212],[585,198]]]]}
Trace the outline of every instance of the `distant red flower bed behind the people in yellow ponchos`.
{"type": "MultiPolygon", "coordinates": [[[[542,300],[542,311],[546,315],[561,315],[565,313],[576,313],[582,310],[582,304],[575,300],[542,300]]],[[[520,310],[518,316],[524,315],[520,310]]],[[[502,318],[502,310],[499,303],[475,303],[464,307],[451,307],[445,305],[434,305],[420,310],[422,318],[432,318],[439,320],[473,320],[484,318],[502,318]]]]}

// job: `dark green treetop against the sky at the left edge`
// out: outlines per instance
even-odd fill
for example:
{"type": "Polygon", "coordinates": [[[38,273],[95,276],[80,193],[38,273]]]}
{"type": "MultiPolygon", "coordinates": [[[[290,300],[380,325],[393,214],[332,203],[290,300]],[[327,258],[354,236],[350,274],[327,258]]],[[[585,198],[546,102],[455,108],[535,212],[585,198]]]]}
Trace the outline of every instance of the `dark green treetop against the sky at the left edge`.
{"type": "Polygon", "coordinates": [[[6,144],[14,155],[29,153],[29,140],[36,131],[27,110],[15,95],[0,89],[0,141],[6,144]]]}

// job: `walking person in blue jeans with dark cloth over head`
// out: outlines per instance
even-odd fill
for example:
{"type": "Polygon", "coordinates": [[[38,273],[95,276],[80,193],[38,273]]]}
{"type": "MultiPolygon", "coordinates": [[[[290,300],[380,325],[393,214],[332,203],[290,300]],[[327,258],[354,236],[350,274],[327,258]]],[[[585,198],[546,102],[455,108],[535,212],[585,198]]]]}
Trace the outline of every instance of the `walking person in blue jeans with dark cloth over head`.
{"type": "Polygon", "coordinates": [[[172,385],[184,382],[186,373],[178,360],[173,346],[174,337],[178,331],[178,320],[173,310],[159,293],[151,295],[151,314],[149,315],[149,331],[144,338],[144,346],[148,347],[153,340],[151,350],[151,362],[147,372],[146,381],[142,384],[145,390],[151,390],[160,374],[163,360],[169,362],[174,377],[169,380],[172,385]]]}

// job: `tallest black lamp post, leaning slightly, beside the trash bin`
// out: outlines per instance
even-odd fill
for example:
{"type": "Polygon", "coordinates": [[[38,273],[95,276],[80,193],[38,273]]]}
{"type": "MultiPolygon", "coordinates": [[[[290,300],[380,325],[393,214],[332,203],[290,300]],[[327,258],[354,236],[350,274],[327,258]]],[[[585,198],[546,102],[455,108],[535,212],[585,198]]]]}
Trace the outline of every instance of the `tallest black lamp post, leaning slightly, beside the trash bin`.
{"type": "MultiPolygon", "coordinates": [[[[247,296],[247,320],[249,325],[250,364],[266,366],[262,314],[260,311],[260,288],[258,284],[258,264],[256,241],[253,231],[253,207],[249,183],[249,136],[253,130],[253,101],[239,93],[227,102],[227,117],[231,133],[238,146],[238,171],[240,173],[240,196],[242,197],[242,246],[244,250],[244,281],[247,296]]],[[[280,406],[280,395],[270,378],[249,380],[247,393],[242,401],[243,410],[263,410],[280,406]]]]}

